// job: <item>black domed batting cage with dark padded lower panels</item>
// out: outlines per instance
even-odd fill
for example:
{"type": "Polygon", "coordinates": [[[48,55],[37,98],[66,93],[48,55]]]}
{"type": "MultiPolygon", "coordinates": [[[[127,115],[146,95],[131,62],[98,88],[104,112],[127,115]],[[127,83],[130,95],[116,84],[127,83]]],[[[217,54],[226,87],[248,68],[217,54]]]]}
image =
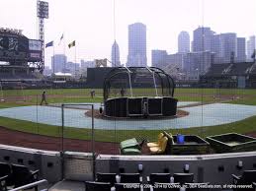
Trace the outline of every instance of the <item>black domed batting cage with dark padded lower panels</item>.
{"type": "Polygon", "coordinates": [[[178,99],[173,97],[175,89],[174,80],[171,78],[170,75],[166,74],[163,70],[159,68],[114,68],[106,76],[103,89],[103,114],[107,117],[147,118],[147,116],[176,115],[178,99]],[[114,90],[114,95],[116,95],[116,89],[121,90],[120,96],[115,96],[114,98],[112,98],[112,90],[114,90]],[[124,94],[124,89],[129,91],[129,94],[126,96],[124,94]],[[147,89],[149,90],[149,95],[145,94],[145,90],[147,89]],[[138,90],[138,95],[134,95],[133,90],[138,90]],[[153,90],[153,96],[150,95],[152,94],[150,90],[153,90]],[[161,99],[160,101],[159,98],[161,99]],[[130,101],[133,103],[130,104],[130,101]],[[149,101],[153,102],[153,104],[149,105],[149,101]],[[170,108],[166,108],[166,104],[170,105],[170,108]],[[150,110],[152,111],[152,107],[159,108],[154,110],[153,112],[149,112],[150,110]]]}

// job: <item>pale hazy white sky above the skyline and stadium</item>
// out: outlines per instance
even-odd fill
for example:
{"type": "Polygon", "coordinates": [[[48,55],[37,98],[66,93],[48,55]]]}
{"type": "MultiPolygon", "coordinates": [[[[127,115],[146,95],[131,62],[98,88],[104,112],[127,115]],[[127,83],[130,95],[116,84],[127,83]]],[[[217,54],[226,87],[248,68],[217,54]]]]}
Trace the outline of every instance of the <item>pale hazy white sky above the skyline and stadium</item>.
{"type": "MultiPolygon", "coordinates": [[[[199,26],[211,27],[217,33],[236,32],[241,37],[256,34],[256,0],[45,1],[49,3],[45,42],[54,40],[54,52],[65,52],[68,61],[73,62],[111,60],[116,38],[121,62],[126,63],[128,25],[136,22],[146,25],[149,65],[152,49],[177,52],[181,31],[189,32],[191,40],[199,26]],[[58,45],[62,33],[64,39],[58,45]],[[76,48],[69,49],[67,44],[72,40],[76,40],[76,48]]],[[[0,7],[0,28],[21,29],[29,38],[38,38],[37,0],[0,0],[0,7]]],[[[53,48],[45,49],[46,66],[50,66],[52,54],[53,48]]]]}

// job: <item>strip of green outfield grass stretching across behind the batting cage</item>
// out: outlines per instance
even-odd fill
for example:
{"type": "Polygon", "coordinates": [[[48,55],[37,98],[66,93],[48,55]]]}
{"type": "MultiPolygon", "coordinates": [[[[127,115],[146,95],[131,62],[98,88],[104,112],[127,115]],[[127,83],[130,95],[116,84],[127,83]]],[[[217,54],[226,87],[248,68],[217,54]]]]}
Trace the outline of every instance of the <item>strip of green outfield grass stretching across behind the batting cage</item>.
{"type": "MultiPolygon", "coordinates": [[[[96,97],[90,97],[90,89],[48,89],[46,91],[47,101],[53,102],[102,102],[102,89],[95,89],[96,97]]],[[[20,96],[26,99],[23,104],[39,104],[43,90],[7,90],[3,91],[4,97],[20,96]]],[[[134,89],[134,96],[141,96],[146,93],[150,96],[154,95],[154,89],[134,89]]],[[[119,95],[117,95],[119,96],[119,95]]],[[[237,104],[251,104],[256,105],[256,90],[247,89],[175,89],[175,95],[180,101],[203,101],[213,102],[220,99],[230,99],[232,96],[235,100],[228,101],[237,104]]],[[[19,106],[19,103],[16,104],[19,106]]],[[[11,103],[10,106],[15,106],[11,103]]],[[[1,107],[8,107],[8,104],[0,103],[1,107]]]]}

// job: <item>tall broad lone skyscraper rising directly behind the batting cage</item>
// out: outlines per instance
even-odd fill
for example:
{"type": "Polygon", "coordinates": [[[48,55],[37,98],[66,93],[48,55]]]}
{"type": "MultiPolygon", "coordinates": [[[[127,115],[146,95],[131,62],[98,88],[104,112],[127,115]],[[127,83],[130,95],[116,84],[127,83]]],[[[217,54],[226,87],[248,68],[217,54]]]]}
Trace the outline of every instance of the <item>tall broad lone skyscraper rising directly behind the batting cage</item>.
{"type": "Polygon", "coordinates": [[[128,26],[127,66],[146,66],[146,26],[135,23],[128,26]]]}

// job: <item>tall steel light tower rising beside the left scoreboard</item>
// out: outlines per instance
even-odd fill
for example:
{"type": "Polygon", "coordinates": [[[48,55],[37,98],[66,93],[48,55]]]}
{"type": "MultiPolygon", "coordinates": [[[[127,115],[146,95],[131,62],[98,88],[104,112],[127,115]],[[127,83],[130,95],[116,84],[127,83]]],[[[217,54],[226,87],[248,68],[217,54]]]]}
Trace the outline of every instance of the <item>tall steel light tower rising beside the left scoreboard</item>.
{"type": "Polygon", "coordinates": [[[48,2],[38,0],[39,39],[42,41],[42,63],[39,67],[41,73],[44,69],[44,19],[48,19],[48,2]]]}

